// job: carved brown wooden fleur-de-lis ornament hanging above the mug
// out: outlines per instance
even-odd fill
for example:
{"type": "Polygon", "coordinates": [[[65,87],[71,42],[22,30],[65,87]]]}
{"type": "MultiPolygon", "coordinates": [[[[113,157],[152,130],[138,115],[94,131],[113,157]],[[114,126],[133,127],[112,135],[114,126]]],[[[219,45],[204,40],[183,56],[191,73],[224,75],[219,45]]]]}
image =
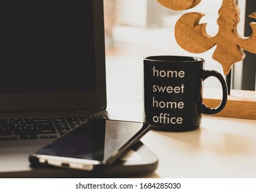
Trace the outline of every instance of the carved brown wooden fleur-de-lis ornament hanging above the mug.
{"type": "MultiPolygon", "coordinates": [[[[159,3],[172,10],[186,10],[198,5],[201,0],[157,0],[159,3]]],[[[256,53],[256,23],[251,23],[253,34],[249,38],[242,38],[237,33],[240,22],[240,10],[236,0],[222,0],[219,10],[216,36],[209,36],[206,31],[207,23],[199,24],[205,14],[191,12],[181,16],[175,26],[175,38],[183,49],[191,53],[202,53],[216,45],[213,59],[222,64],[224,74],[229,71],[235,62],[244,59],[244,50],[256,53]]],[[[256,12],[250,15],[256,19],[256,12]]]]}

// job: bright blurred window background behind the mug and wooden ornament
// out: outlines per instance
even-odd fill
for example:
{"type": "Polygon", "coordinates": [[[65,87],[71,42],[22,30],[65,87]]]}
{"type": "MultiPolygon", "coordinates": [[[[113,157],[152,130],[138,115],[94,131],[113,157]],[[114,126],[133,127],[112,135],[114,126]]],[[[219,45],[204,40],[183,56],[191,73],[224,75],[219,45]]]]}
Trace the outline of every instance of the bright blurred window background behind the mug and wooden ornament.
{"type": "MultiPolygon", "coordinates": [[[[256,2],[240,0],[238,3],[241,12],[238,31],[244,36],[245,23],[251,22],[246,20],[246,11],[253,13],[248,9],[256,8],[256,2]]],[[[174,37],[176,21],[187,12],[205,13],[200,23],[207,23],[207,33],[215,36],[218,33],[217,19],[221,5],[222,0],[202,0],[196,8],[176,12],[163,7],[156,0],[104,0],[107,82],[116,85],[111,86],[111,94],[123,91],[124,94],[132,93],[130,97],[141,97],[137,93],[143,91],[143,58],[146,56],[198,56],[205,59],[205,69],[216,70],[223,75],[222,66],[212,59],[215,47],[205,53],[189,53],[178,46],[174,37]]],[[[251,36],[250,26],[247,28],[247,35],[251,36]]],[[[253,57],[251,60],[255,59],[253,57]]],[[[251,64],[250,69],[244,69],[244,65],[240,62],[233,67],[232,88],[255,90],[256,65],[251,64]],[[243,85],[248,73],[251,76],[243,85]]],[[[210,77],[204,86],[220,88],[220,83],[210,77]]]]}

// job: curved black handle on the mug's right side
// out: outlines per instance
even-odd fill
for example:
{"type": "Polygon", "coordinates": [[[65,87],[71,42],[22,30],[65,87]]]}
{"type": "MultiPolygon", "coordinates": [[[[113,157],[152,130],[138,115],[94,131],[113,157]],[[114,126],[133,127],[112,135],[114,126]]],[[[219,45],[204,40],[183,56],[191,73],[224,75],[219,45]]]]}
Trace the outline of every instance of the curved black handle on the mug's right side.
{"type": "Polygon", "coordinates": [[[206,115],[216,115],[217,113],[222,111],[222,109],[226,106],[226,101],[228,99],[228,91],[227,91],[226,81],[224,80],[222,75],[220,73],[218,73],[217,71],[211,71],[211,70],[203,70],[202,71],[202,80],[203,81],[205,81],[208,77],[211,77],[211,76],[216,77],[222,85],[222,101],[220,103],[220,106],[218,106],[217,108],[209,108],[209,107],[205,106],[205,104],[202,104],[201,112],[206,115]]]}

